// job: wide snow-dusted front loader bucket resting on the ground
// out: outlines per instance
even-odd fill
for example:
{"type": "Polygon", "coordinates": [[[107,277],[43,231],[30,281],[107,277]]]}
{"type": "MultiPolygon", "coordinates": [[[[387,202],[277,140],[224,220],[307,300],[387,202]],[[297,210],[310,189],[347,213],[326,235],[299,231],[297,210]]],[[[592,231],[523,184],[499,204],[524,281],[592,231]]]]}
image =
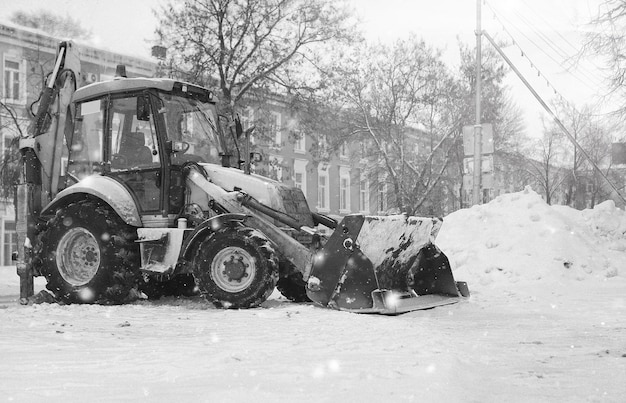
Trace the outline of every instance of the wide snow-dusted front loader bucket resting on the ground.
{"type": "Polygon", "coordinates": [[[441,224],[405,215],[345,217],[314,258],[307,295],[335,309],[390,315],[457,302],[467,286],[455,282],[432,243],[441,224]]]}

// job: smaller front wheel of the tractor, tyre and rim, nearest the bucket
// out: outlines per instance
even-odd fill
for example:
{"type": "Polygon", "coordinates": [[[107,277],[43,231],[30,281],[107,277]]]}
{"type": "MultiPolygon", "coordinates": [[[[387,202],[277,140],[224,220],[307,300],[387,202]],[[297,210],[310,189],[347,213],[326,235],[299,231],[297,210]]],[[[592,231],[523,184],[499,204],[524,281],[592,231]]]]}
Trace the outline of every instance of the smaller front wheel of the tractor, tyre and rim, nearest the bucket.
{"type": "Polygon", "coordinates": [[[222,308],[256,307],[278,281],[274,248],[246,227],[223,227],[200,242],[193,267],[202,294],[222,308]]]}

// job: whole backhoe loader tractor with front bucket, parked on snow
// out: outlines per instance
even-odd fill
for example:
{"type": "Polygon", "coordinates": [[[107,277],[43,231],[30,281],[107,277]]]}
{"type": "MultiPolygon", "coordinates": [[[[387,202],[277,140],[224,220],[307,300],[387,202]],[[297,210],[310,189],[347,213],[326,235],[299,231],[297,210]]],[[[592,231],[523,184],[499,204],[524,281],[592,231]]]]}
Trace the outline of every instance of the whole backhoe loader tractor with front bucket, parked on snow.
{"type": "Polygon", "coordinates": [[[277,287],[293,301],[398,314],[468,295],[433,243],[441,220],[312,212],[300,189],[250,173],[249,152],[228,152],[237,141],[247,151],[250,131],[218,115],[209,90],[119,70],[77,88],[78,50],[59,46],[20,139],[22,301],[33,276],[66,303],[199,290],[251,308],[277,287]]]}

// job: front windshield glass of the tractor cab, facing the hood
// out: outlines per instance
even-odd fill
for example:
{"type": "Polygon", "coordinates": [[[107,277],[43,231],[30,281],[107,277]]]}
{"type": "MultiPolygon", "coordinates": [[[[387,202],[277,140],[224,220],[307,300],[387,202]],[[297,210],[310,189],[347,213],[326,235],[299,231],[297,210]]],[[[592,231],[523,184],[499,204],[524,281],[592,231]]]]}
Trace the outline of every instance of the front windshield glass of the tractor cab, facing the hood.
{"type": "Polygon", "coordinates": [[[185,161],[219,164],[222,145],[216,127],[215,105],[168,93],[160,93],[159,98],[158,112],[164,118],[167,139],[184,145],[182,150],[172,153],[172,164],[185,161]]]}

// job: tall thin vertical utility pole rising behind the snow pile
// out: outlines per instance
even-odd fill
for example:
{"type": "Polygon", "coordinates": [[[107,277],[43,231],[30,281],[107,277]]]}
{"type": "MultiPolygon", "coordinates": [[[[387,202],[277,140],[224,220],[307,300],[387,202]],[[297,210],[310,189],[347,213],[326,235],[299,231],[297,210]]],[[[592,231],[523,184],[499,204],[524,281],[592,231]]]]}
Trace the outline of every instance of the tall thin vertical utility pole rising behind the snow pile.
{"type": "Polygon", "coordinates": [[[481,170],[482,170],[482,125],[480,116],[480,99],[482,87],[482,27],[481,27],[481,9],[480,2],[476,0],[476,123],[474,125],[474,176],[473,176],[473,192],[472,204],[480,204],[481,199],[481,170]]]}

